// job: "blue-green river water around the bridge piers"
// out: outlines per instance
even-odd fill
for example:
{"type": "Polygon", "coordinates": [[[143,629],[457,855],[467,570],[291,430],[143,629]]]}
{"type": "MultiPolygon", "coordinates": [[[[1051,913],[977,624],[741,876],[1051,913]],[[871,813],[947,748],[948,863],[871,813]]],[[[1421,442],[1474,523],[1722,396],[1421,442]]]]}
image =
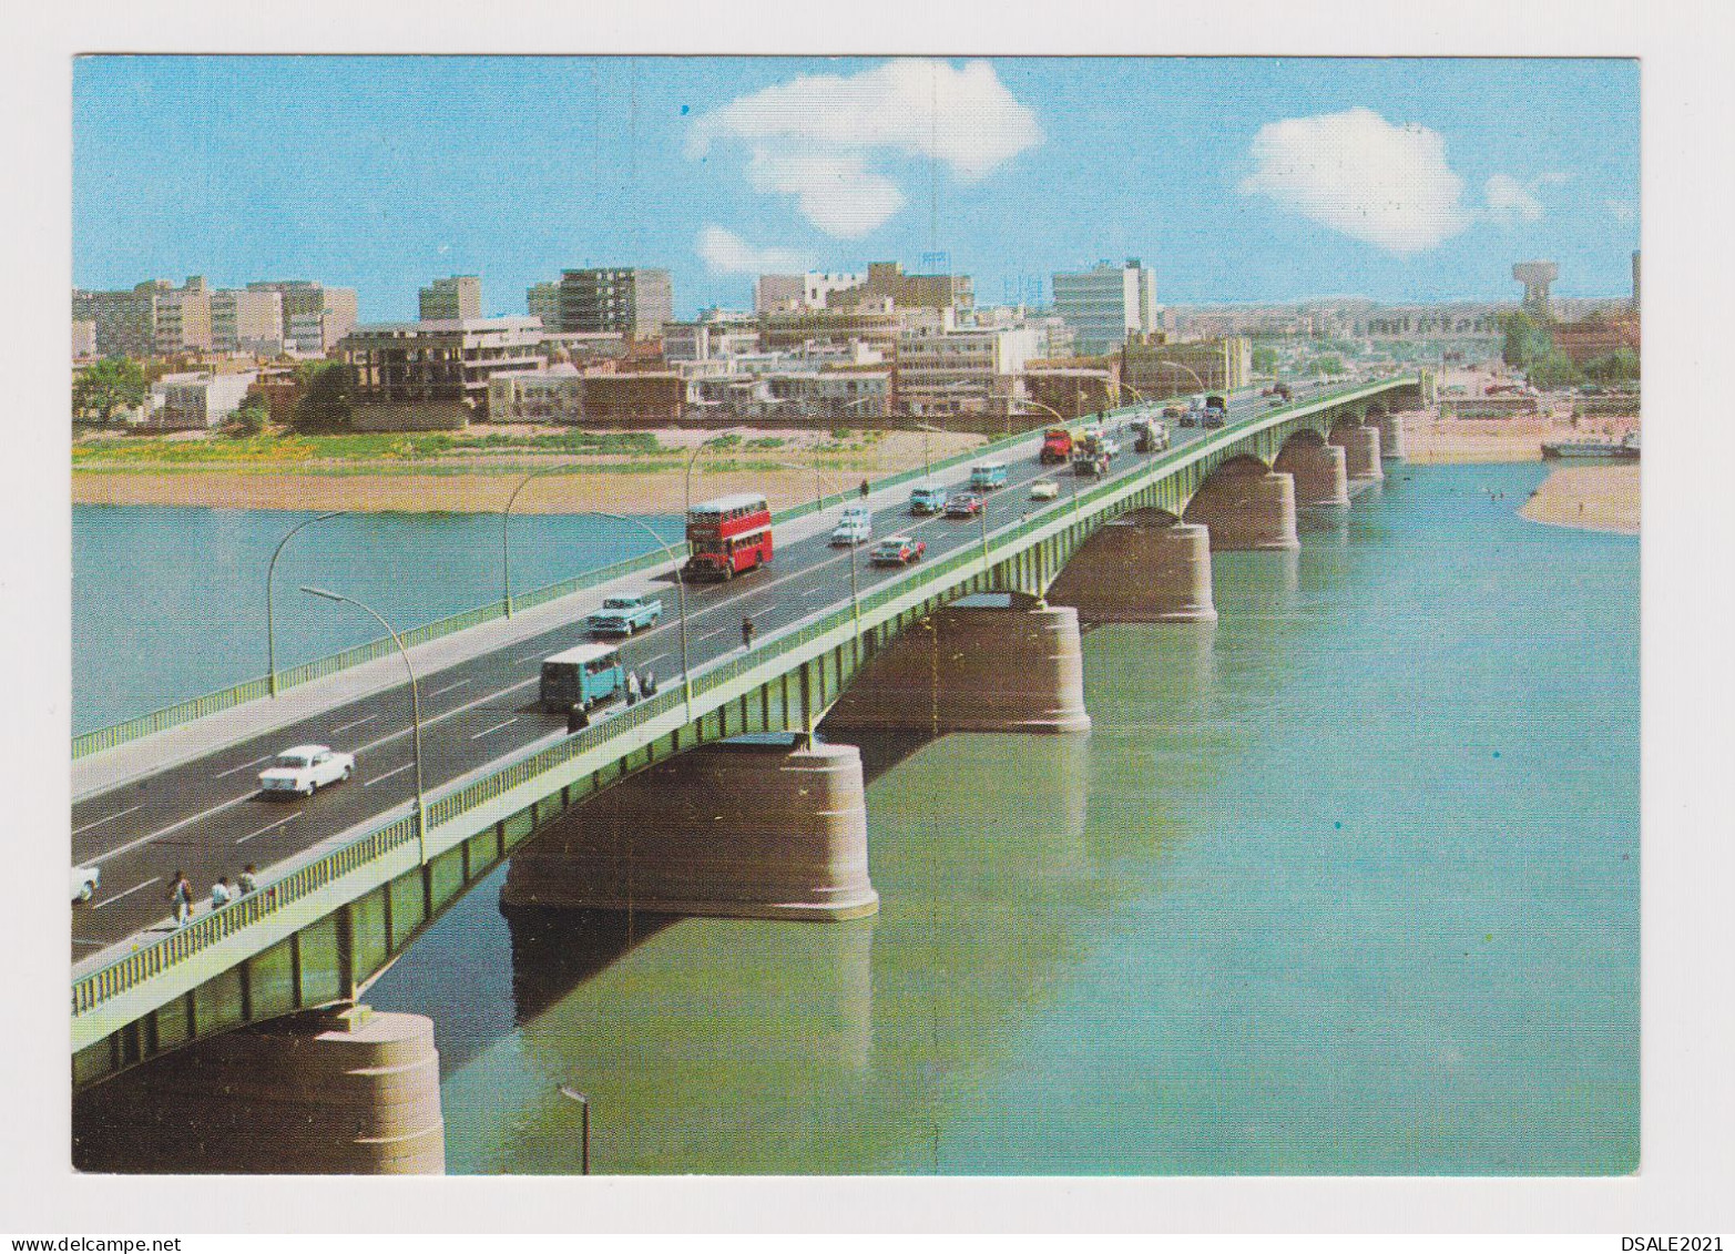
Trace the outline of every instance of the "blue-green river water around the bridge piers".
{"type": "Polygon", "coordinates": [[[864,742],[874,918],[484,881],[368,997],[434,1018],[448,1169],[578,1171],[566,1086],[600,1172],[1634,1171],[1638,541],[1520,519],[1544,475],[1391,467],[1216,555],[1214,626],[1086,635],[1088,735],[864,742]]]}

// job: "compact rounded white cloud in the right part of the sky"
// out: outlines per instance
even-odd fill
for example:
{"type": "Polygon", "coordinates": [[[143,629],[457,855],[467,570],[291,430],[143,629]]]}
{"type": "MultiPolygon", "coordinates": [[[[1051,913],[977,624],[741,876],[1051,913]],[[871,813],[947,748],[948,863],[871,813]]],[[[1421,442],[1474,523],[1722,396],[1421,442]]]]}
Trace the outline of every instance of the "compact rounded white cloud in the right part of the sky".
{"type": "Polygon", "coordinates": [[[1372,109],[1286,118],[1253,137],[1247,196],[1270,196],[1332,231],[1391,253],[1435,248],[1470,225],[1464,180],[1445,140],[1372,109]]]}

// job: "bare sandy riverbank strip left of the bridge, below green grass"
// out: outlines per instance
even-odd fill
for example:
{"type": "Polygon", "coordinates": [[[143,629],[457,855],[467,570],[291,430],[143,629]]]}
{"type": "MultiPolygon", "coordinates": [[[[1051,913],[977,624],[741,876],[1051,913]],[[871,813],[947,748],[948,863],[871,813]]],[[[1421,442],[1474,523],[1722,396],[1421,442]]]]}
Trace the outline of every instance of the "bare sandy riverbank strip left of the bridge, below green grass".
{"type": "MultiPolygon", "coordinates": [[[[788,435],[788,432],[779,432],[788,435]]],[[[696,442],[692,432],[658,432],[666,447],[696,442]]],[[[753,432],[743,432],[751,439],[753,432]]],[[[809,467],[819,461],[828,494],[854,487],[861,479],[881,479],[975,447],[982,437],[887,432],[857,446],[819,446],[791,441],[779,449],[732,449],[704,454],[692,477],[696,496],[762,491],[772,508],[814,500],[814,472],[770,463],[809,467]]],[[[73,472],[78,505],[179,505],[219,510],[352,510],[366,513],[494,513],[512,489],[540,467],[574,465],[571,475],[548,475],[531,484],[514,503],[515,513],[678,513],[685,491],[687,458],[663,463],[623,463],[619,456],[559,456],[512,453],[498,456],[439,458],[401,463],[298,463],[293,467],[193,463],[104,467],[85,461],[73,472]]]]}

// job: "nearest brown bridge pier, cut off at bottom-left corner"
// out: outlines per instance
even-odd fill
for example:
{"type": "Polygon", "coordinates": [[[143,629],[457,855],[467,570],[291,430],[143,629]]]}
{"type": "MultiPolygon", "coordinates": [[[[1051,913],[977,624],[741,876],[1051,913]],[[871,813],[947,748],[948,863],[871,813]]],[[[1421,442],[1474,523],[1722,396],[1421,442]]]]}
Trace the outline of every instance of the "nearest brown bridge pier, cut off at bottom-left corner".
{"type": "Polygon", "coordinates": [[[444,1174],[434,1023],[347,1006],[163,1055],[73,1096],[73,1167],[444,1174]]]}

